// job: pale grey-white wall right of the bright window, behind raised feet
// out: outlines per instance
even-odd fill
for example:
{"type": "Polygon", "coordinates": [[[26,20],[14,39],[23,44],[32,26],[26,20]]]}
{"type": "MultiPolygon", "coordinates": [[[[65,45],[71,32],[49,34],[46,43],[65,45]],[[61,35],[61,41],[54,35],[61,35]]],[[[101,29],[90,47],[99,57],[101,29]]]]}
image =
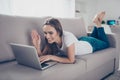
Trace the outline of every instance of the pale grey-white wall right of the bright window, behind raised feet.
{"type": "MultiPolygon", "coordinates": [[[[117,20],[120,16],[119,4],[120,0],[76,0],[84,2],[85,5],[85,21],[86,25],[92,24],[93,16],[99,11],[106,11],[105,20],[115,19],[117,20]]],[[[81,4],[80,4],[81,5],[81,4]]],[[[82,14],[82,13],[81,13],[82,14]]]]}

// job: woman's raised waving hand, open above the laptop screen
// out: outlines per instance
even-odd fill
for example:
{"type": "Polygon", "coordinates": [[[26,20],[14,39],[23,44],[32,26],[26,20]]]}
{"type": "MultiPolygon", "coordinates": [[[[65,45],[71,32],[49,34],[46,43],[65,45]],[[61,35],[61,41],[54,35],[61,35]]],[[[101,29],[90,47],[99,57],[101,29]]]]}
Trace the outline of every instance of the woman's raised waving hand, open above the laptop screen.
{"type": "Polygon", "coordinates": [[[41,44],[41,38],[40,38],[40,35],[38,34],[38,32],[36,30],[32,30],[31,37],[32,37],[32,43],[33,43],[33,45],[36,48],[39,48],[40,44],[41,44]]]}

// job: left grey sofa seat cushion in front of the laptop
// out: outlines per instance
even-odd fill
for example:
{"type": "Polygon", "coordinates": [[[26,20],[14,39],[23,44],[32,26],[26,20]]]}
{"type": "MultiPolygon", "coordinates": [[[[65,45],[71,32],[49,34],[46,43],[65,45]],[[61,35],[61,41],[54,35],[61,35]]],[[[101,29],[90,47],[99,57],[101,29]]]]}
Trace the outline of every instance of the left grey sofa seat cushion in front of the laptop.
{"type": "Polygon", "coordinates": [[[0,80],[77,80],[85,74],[85,64],[85,61],[77,59],[75,64],[57,63],[41,71],[13,61],[0,64],[0,80]]]}

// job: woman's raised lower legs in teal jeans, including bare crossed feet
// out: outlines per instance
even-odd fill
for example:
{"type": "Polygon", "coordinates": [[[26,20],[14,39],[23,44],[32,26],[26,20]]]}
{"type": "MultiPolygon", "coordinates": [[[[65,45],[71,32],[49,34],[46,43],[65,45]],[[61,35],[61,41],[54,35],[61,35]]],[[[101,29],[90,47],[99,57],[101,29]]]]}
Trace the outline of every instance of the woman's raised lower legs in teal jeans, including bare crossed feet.
{"type": "Polygon", "coordinates": [[[102,22],[104,16],[105,16],[105,12],[101,12],[101,13],[97,14],[97,16],[95,16],[95,18],[93,20],[93,22],[96,25],[96,29],[95,29],[96,33],[93,30],[93,34],[91,35],[92,37],[94,37],[94,35],[96,34],[94,37],[95,39],[93,39],[93,43],[92,43],[94,51],[105,49],[105,48],[109,47],[108,38],[104,32],[104,28],[101,27],[101,22],[102,22]]]}

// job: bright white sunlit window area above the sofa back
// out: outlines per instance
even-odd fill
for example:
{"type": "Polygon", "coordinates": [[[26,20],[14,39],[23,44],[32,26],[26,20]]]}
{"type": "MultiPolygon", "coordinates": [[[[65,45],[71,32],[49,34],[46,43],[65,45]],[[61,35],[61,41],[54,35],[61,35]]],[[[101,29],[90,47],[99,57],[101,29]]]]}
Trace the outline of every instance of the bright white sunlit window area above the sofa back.
{"type": "Polygon", "coordinates": [[[74,17],[75,0],[12,0],[12,14],[20,16],[74,17]]]}

